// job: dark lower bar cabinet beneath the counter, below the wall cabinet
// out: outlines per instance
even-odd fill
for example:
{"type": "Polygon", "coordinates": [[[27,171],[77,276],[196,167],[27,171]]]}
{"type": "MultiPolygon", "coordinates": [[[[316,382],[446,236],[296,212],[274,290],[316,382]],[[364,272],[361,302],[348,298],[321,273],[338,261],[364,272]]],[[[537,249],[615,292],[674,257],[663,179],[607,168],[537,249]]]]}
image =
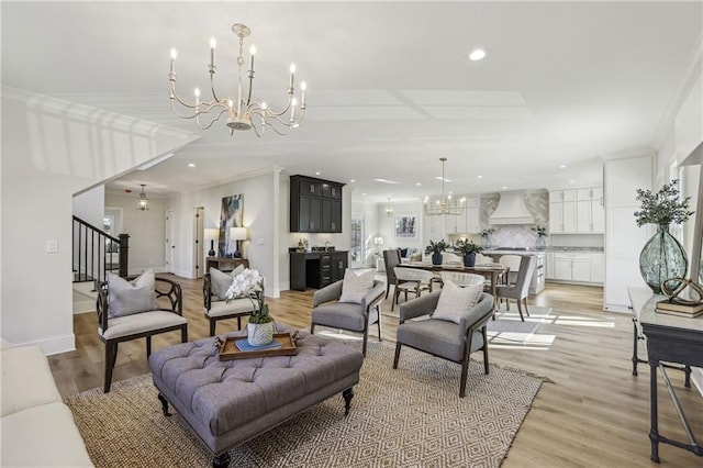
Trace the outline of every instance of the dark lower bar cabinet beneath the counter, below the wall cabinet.
{"type": "Polygon", "coordinates": [[[344,279],[348,266],[347,252],[290,253],[290,289],[324,288],[344,279]]]}

